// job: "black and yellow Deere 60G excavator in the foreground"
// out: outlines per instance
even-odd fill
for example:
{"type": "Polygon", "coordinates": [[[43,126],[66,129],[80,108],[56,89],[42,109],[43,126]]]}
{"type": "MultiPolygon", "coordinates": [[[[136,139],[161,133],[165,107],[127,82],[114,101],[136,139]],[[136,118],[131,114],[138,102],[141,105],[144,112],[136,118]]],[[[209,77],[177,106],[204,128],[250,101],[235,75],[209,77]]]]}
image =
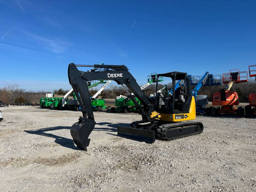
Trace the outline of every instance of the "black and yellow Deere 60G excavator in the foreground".
{"type": "Polygon", "coordinates": [[[83,117],[79,117],[78,122],[70,129],[78,148],[87,150],[90,143],[88,137],[96,124],[87,86],[87,81],[96,79],[113,80],[122,85],[142,116],[141,121],[132,122],[129,127],[118,126],[117,136],[153,143],[156,138],[174,140],[203,132],[204,126],[201,122],[188,122],[196,119],[196,105],[195,98],[191,95],[187,73],[174,71],[157,74],[156,96],[147,97],[128,70],[124,65],[75,65],[74,63],[68,65],[69,83],[74,89],[83,113],[83,117]],[[77,67],[92,69],[81,71],[77,67]],[[157,92],[157,79],[161,76],[172,79],[173,89],[176,80],[184,80],[184,86],[173,90],[172,95],[168,92],[164,94],[157,92]],[[140,100],[140,104],[135,98],[140,100]]]}

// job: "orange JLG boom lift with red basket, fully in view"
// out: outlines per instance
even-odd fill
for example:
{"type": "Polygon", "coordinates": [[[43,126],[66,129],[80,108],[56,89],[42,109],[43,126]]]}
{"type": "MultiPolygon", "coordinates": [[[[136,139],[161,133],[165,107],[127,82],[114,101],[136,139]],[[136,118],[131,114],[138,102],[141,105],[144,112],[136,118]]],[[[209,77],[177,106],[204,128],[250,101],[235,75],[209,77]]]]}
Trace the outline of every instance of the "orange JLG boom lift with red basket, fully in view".
{"type": "Polygon", "coordinates": [[[238,95],[236,92],[230,91],[230,88],[234,83],[248,82],[247,71],[232,69],[229,73],[222,74],[222,82],[223,84],[227,84],[227,86],[213,93],[212,105],[220,107],[212,107],[211,115],[236,114],[238,116],[244,116],[244,108],[236,108],[236,105],[239,104],[238,95]]]}

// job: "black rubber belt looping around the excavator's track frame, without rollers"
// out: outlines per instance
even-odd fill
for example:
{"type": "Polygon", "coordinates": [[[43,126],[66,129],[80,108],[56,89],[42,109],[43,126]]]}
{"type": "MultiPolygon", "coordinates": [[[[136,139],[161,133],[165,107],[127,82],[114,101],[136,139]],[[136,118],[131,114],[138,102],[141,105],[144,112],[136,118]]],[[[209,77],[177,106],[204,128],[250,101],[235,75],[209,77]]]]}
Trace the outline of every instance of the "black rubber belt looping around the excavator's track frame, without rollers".
{"type": "MultiPolygon", "coordinates": [[[[176,127],[181,127],[181,126],[189,126],[189,125],[200,125],[201,128],[203,129],[203,124],[201,122],[177,122],[177,123],[170,123],[170,124],[163,124],[163,125],[160,125],[157,129],[157,137],[159,139],[162,139],[162,140],[175,140],[175,139],[179,139],[181,138],[180,136],[181,135],[178,135],[177,137],[167,137],[166,136],[166,132],[167,130],[169,129],[172,129],[172,128],[176,128],[176,127]]],[[[190,133],[189,135],[187,134],[184,134],[184,137],[187,137],[187,136],[191,136],[191,135],[197,135],[201,133],[200,131],[199,132],[194,132],[194,133],[190,133]]]]}

